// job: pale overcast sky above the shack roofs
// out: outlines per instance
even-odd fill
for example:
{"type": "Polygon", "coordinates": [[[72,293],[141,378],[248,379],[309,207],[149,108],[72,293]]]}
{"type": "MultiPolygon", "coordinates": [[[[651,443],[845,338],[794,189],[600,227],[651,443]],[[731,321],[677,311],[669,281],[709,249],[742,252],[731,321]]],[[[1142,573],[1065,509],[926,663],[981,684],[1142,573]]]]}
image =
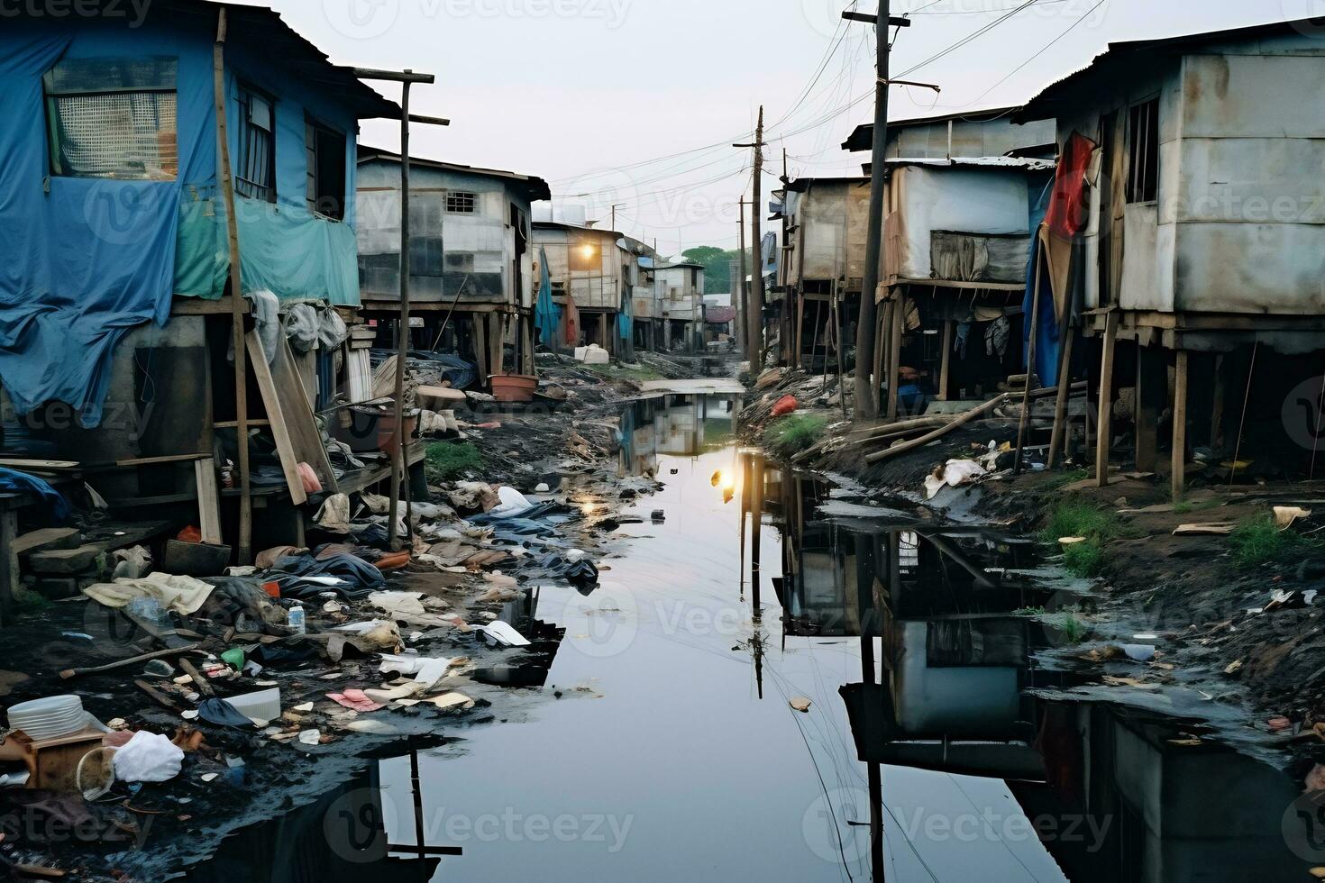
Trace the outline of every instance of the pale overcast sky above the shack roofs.
{"type": "MultiPolygon", "coordinates": [[[[411,110],[412,152],[538,175],[554,199],[664,253],[731,248],[750,151],[729,144],[766,109],[765,197],[792,176],[859,171],[840,144],[872,118],[873,32],[841,24],[849,0],[270,0],[338,64],[437,75],[411,110]],[[824,62],[827,57],[827,62],[824,62]],[[818,79],[815,79],[819,73],[818,79]],[[806,93],[807,87],[814,86],[806,93]],[[848,105],[856,99],[853,106],[848,105]],[[702,148],[702,150],[701,150],[702,148]],[[662,159],[666,158],[666,159],[662,159]],[[587,196],[580,196],[587,195],[587,196]]],[[[877,9],[877,0],[856,8],[877,9]]],[[[926,62],[1024,0],[893,0],[913,12],[893,75],[926,62]]],[[[262,4],[266,5],[266,4],[262,4]]],[[[1020,103],[1084,66],[1110,40],[1163,37],[1325,15],[1325,0],[1036,0],[896,87],[893,119],[1020,103]],[[1098,5],[1097,5],[1098,4],[1098,5]],[[1071,28],[1071,29],[1069,29],[1071,28]],[[1056,42],[1053,42],[1056,41],[1056,42]],[[1052,45],[1051,45],[1052,44],[1052,45]],[[1039,54],[1036,54],[1039,53],[1039,54]]],[[[396,98],[394,85],[378,85],[396,98]]],[[[364,120],[362,140],[399,147],[399,126],[364,120]]]]}

